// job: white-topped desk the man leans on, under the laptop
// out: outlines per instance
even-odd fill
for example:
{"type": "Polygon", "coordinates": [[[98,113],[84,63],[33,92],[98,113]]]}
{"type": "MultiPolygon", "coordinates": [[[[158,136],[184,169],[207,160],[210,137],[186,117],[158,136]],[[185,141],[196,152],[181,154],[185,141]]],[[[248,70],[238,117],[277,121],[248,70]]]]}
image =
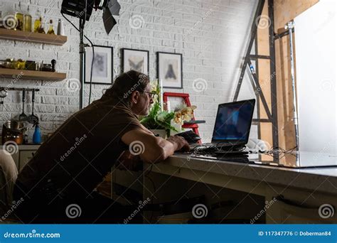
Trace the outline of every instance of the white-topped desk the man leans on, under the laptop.
{"type": "MultiPolygon", "coordinates": [[[[150,168],[149,165],[146,167],[150,168]]],[[[161,197],[164,200],[172,198],[167,188],[180,192],[186,188],[183,188],[181,182],[172,183],[169,187],[165,184],[170,184],[172,178],[182,178],[260,195],[267,202],[277,195],[283,195],[285,200],[275,200],[269,208],[264,208],[267,223],[337,222],[337,167],[282,168],[173,155],[154,165],[149,175],[156,178],[158,183],[155,181],[157,185],[154,192],[151,182],[144,178],[144,198],[151,193],[154,193],[157,201],[161,197]],[[160,180],[160,175],[166,176],[160,180]],[[164,187],[166,192],[158,193],[164,187]],[[157,196],[157,193],[160,195],[157,196]],[[332,217],[323,219],[319,215],[319,207],[323,204],[333,207],[332,217]]]]}

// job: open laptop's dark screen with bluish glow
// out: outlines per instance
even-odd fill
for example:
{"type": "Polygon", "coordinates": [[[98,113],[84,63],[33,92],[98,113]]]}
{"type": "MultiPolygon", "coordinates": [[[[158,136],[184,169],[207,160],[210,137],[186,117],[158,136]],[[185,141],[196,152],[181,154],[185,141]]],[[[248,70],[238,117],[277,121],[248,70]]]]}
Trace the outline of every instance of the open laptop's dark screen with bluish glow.
{"type": "Polygon", "coordinates": [[[246,143],[250,136],[255,99],[219,104],[213,130],[213,142],[246,143]]]}

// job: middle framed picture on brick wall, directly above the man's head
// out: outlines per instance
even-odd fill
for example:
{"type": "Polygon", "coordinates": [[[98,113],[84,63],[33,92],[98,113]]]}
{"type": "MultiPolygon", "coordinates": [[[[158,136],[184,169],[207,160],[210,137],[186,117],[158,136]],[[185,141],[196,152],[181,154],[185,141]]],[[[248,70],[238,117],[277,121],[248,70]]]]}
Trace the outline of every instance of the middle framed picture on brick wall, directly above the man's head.
{"type": "Polygon", "coordinates": [[[149,75],[149,50],[122,48],[122,72],[129,70],[149,75]]]}

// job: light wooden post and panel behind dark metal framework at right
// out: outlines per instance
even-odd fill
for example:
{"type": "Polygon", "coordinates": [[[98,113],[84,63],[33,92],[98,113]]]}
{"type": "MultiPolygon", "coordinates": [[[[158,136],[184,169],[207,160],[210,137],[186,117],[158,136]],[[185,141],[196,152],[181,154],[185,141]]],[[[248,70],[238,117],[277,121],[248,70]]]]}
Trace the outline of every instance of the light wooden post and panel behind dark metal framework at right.
{"type": "MultiPolygon", "coordinates": [[[[294,19],[306,9],[309,9],[318,1],[319,0],[274,0],[274,28],[279,34],[279,38],[275,40],[277,119],[279,125],[279,146],[284,149],[294,148],[296,143],[294,121],[292,121],[294,111],[292,107],[293,94],[290,77],[289,35],[284,36],[281,35],[281,33],[284,33],[284,25],[287,22],[294,19]]],[[[296,47],[294,55],[296,60],[296,47]]]]}

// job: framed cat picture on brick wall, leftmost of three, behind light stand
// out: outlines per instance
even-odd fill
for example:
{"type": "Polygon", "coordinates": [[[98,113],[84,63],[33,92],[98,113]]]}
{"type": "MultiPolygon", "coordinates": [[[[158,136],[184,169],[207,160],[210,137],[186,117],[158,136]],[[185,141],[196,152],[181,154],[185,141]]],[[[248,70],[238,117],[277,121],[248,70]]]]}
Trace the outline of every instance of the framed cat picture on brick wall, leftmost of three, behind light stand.
{"type": "Polygon", "coordinates": [[[92,83],[111,85],[113,80],[113,51],[110,46],[94,45],[95,58],[92,64],[92,48],[85,52],[85,83],[90,83],[92,64],[92,83]]]}

